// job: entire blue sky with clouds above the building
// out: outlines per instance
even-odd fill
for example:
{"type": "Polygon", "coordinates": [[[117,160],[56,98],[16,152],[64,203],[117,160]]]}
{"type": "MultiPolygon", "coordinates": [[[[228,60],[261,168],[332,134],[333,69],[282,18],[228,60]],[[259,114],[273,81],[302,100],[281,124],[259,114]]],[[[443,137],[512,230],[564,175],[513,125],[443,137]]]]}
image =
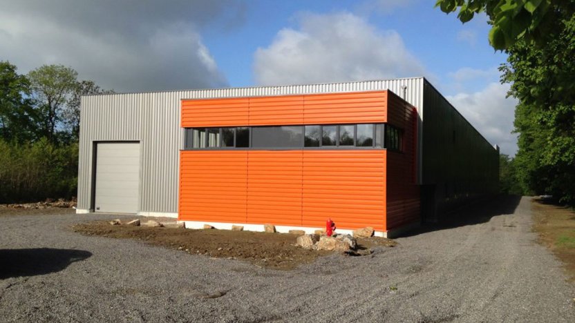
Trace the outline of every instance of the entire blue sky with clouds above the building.
{"type": "Polygon", "coordinates": [[[433,0],[0,0],[0,60],[62,64],[116,92],[426,77],[501,152],[517,150],[487,17],[433,0]]]}

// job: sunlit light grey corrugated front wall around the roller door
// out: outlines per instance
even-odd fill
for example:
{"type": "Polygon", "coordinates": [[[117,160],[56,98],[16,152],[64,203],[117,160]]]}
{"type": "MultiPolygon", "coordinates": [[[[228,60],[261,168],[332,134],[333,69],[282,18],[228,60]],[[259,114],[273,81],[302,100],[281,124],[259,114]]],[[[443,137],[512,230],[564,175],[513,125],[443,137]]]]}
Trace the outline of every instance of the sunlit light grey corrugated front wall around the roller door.
{"type": "MultiPolygon", "coordinates": [[[[82,97],[78,208],[91,208],[95,141],[140,141],[140,212],[177,213],[178,153],[183,147],[180,100],[391,90],[423,112],[422,77],[336,84],[223,88],[82,97]]],[[[420,118],[421,130],[421,118],[420,118]]],[[[422,131],[419,132],[421,141],[422,131]]],[[[419,147],[421,158],[421,146],[419,147]]],[[[421,159],[420,159],[421,161],[421,159]]],[[[420,162],[421,165],[421,162],[420,162]]],[[[421,167],[418,168],[421,178],[421,167]]]]}

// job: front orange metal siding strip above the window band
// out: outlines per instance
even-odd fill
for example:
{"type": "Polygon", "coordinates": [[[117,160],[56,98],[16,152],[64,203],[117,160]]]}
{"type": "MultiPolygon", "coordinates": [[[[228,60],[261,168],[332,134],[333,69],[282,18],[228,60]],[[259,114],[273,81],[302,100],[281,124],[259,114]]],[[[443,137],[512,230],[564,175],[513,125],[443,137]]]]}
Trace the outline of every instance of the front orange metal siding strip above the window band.
{"type": "Polygon", "coordinates": [[[387,121],[388,91],[182,101],[182,127],[387,121]]]}

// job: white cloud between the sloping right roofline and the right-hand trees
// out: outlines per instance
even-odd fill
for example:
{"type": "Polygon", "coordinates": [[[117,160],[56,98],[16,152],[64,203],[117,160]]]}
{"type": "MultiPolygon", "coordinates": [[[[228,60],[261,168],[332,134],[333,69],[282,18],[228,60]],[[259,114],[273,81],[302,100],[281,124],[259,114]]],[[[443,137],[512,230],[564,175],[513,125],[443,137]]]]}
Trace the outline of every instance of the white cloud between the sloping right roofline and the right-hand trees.
{"type": "Polygon", "coordinates": [[[511,134],[517,100],[506,98],[509,84],[490,83],[484,89],[446,96],[446,99],[501,153],[515,155],[517,135],[511,134]]]}

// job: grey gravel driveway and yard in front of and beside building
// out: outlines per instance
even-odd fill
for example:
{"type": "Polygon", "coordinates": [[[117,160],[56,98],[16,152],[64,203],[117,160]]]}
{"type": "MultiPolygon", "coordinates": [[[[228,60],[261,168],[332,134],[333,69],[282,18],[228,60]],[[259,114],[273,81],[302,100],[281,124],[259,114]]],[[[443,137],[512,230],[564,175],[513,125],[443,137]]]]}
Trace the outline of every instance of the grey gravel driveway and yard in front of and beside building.
{"type": "Polygon", "coordinates": [[[493,201],[373,257],[287,272],[68,229],[112,215],[0,217],[0,320],[575,322],[575,288],[534,242],[530,208],[493,201]]]}

